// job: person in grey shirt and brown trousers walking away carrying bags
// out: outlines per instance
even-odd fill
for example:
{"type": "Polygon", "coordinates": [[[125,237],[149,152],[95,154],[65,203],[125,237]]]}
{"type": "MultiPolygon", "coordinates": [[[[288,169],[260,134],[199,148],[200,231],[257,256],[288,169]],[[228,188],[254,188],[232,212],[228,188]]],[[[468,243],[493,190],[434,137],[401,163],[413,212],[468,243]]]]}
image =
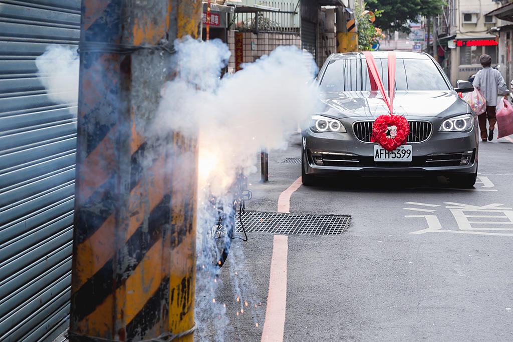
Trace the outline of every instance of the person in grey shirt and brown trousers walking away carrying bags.
{"type": "Polygon", "coordinates": [[[479,130],[481,131],[481,139],[485,142],[487,139],[491,141],[494,138],[495,124],[497,118],[495,116],[495,106],[497,106],[497,95],[507,94],[506,83],[501,73],[497,69],[490,67],[491,57],[487,54],[481,55],[479,62],[483,69],[479,70],[472,85],[479,89],[486,101],[486,111],[478,115],[479,130]],[[486,132],[486,119],[488,119],[489,128],[486,132]]]}

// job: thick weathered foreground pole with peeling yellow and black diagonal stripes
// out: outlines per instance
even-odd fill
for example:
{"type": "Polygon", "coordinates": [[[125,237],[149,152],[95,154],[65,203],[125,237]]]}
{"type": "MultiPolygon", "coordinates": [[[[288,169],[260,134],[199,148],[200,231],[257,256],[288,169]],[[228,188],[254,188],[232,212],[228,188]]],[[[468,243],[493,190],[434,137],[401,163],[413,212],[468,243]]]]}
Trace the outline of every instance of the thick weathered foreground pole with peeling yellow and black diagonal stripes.
{"type": "Polygon", "coordinates": [[[201,34],[202,2],[82,11],[69,339],[192,341],[196,138],[157,136],[153,120],[179,72],[170,42],[201,34]]]}

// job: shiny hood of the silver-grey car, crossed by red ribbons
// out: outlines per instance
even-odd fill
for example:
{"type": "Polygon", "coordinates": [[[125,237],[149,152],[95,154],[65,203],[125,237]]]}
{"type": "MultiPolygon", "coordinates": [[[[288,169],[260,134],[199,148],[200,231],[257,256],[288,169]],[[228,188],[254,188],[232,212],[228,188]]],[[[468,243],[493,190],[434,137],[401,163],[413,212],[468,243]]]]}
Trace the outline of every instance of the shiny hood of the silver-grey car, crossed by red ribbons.
{"type": "MultiPolygon", "coordinates": [[[[332,118],[369,117],[388,114],[381,93],[377,91],[322,92],[319,114],[332,118]]],[[[470,112],[467,103],[452,90],[398,91],[393,99],[394,114],[451,117],[470,112]]]]}

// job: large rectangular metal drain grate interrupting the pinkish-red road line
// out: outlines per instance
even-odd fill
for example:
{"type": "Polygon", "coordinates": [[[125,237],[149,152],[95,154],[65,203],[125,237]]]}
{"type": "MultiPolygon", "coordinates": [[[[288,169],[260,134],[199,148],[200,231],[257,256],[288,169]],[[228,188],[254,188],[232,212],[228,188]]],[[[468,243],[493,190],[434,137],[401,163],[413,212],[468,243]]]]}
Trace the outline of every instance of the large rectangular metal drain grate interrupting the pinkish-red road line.
{"type": "MultiPolygon", "coordinates": [[[[342,234],[351,216],[342,215],[295,215],[288,213],[264,213],[247,211],[242,223],[248,233],[272,233],[288,235],[336,235],[342,234]]],[[[236,231],[242,231],[237,220],[236,231]]]]}

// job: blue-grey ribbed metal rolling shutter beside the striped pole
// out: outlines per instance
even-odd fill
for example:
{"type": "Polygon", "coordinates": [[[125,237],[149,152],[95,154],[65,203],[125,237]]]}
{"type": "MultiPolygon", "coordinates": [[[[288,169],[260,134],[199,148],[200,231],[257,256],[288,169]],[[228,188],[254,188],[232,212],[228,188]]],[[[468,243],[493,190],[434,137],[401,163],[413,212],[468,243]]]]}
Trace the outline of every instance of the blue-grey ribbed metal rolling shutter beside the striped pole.
{"type": "Polygon", "coordinates": [[[80,7],[0,0],[1,341],[51,341],[67,326],[76,103],[51,102],[35,58],[77,46],[80,7]]]}

